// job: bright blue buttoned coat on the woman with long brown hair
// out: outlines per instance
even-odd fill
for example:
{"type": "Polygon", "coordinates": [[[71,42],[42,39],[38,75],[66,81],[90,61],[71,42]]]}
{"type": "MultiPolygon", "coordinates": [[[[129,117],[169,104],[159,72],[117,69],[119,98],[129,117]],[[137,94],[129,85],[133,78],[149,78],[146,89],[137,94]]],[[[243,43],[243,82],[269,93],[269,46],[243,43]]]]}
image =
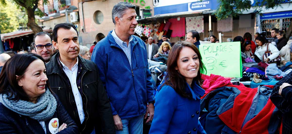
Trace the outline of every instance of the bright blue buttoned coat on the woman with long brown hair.
{"type": "Polygon", "coordinates": [[[163,86],[157,93],[155,114],[149,134],[205,134],[198,118],[200,98],[205,90],[195,82],[186,91],[192,99],[180,96],[171,86],[163,86]]]}

